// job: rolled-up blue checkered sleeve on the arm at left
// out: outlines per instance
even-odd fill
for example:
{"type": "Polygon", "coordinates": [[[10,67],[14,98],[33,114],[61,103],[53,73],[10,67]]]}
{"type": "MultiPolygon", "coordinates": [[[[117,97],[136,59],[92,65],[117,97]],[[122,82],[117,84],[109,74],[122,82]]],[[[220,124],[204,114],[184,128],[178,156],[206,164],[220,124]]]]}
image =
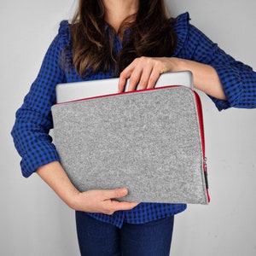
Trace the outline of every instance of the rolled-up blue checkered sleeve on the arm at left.
{"type": "Polygon", "coordinates": [[[49,130],[53,127],[51,106],[55,104],[55,85],[64,83],[60,65],[61,37],[50,44],[37,79],[16,112],[11,131],[15,147],[21,156],[21,172],[29,177],[39,166],[59,160],[49,130]]]}

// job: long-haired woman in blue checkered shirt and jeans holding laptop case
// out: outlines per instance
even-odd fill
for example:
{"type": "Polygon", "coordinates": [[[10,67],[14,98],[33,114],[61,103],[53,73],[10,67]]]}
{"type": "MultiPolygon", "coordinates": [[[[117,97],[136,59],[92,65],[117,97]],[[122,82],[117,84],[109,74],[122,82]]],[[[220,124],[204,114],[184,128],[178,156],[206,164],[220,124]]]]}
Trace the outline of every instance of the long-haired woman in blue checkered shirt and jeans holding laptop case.
{"type": "Polygon", "coordinates": [[[80,0],[60,30],[38,78],[17,111],[12,131],[25,177],[37,172],[76,210],[82,255],[169,255],[173,216],[183,204],[113,201],[125,188],[79,192],[61,167],[48,135],[55,85],[119,76],[119,91],[152,88],[161,73],[190,70],[195,87],[221,110],[255,108],[256,73],[235,61],[189,15],[167,19],[163,0],[80,0]]]}

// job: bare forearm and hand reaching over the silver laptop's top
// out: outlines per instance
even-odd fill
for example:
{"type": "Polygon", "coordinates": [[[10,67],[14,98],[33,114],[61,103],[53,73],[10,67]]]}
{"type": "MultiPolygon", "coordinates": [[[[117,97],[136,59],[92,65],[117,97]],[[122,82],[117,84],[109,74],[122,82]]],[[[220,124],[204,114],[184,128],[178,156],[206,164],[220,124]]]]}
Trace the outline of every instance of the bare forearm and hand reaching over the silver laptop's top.
{"type": "Polygon", "coordinates": [[[222,84],[215,69],[196,61],[179,58],[141,57],[125,68],[119,78],[119,92],[124,90],[126,79],[130,78],[128,90],[153,88],[161,73],[189,70],[193,73],[195,88],[207,95],[226,100],[222,84]],[[207,83],[206,83],[207,81],[207,83]]]}

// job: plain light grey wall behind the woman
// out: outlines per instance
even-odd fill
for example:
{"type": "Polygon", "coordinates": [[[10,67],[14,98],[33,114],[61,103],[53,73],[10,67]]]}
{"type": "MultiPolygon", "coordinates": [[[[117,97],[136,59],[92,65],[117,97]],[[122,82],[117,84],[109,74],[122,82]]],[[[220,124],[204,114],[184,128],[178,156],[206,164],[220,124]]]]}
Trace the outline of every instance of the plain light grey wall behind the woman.
{"type": "MultiPolygon", "coordinates": [[[[0,2],[0,255],[79,255],[73,210],[37,175],[21,177],[9,135],[59,22],[72,17],[76,2],[0,2]]],[[[256,70],[254,0],[167,3],[173,16],[189,11],[191,23],[256,70]]],[[[172,256],[256,255],[256,110],[219,113],[207,96],[201,100],[212,202],[177,215],[172,256]]]]}

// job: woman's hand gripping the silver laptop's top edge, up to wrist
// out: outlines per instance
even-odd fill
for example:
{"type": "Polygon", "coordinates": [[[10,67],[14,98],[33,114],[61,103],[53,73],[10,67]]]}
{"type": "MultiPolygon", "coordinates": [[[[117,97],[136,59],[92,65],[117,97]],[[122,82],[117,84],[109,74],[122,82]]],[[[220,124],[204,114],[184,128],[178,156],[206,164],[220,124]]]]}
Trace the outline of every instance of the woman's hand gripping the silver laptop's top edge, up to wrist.
{"type": "Polygon", "coordinates": [[[119,92],[125,90],[126,79],[130,79],[128,91],[154,88],[161,73],[174,71],[175,61],[175,58],[166,57],[140,57],[135,59],[120,73],[119,92]]]}

